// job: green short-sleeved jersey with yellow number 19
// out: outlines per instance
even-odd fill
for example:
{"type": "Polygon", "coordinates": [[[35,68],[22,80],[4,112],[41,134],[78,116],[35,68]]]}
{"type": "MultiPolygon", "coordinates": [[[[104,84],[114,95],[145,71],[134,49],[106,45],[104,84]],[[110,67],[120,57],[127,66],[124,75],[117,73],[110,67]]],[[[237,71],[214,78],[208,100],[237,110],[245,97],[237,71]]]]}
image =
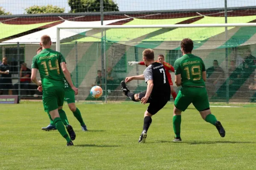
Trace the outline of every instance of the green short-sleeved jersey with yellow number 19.
{"type": "Polygon", "coordinates": [[[181,74],[181,86],[203,86],[202,71],[206,71],[203,60],[193,54],[185,54],[174,62],[175,75],[181,74]]]}

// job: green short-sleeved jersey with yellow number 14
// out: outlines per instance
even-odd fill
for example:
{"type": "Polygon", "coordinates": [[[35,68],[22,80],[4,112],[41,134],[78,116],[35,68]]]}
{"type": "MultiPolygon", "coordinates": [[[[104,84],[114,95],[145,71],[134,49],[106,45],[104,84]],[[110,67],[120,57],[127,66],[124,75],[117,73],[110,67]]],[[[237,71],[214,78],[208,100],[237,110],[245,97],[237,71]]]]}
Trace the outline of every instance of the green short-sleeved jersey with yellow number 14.
{"type": "Polygon", "coordinates": [[[31,68],[38,69],[43,88],[52,86],[64,87],[64,74],[60,66],[61,62],[66,62],[63,55],[50,48],[42,50],[33,57],[31,68]]]}

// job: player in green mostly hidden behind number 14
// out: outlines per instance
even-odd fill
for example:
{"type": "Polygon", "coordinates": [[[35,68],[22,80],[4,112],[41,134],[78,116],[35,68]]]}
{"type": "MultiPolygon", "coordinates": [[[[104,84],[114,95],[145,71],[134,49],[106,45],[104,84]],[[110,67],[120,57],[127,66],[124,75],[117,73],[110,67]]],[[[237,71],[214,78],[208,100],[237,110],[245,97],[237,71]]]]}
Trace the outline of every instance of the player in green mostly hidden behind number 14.
{"type": "MultiPolygon", "coordinates": [[[[41,51],[42,51],[42,47],[39,47],[36,50],[37,54],[40,53],[41,51]]],[[[82,131],[87,131],[87,127],[85,125],[85,122],[82,119],[82,115],[81,115],[79,109],[76,107],[76,104],[75,104],[74,91],[72,90],[71,86],[68,84],[66,79],[64,79],[64,83],[65,83],[65,98],[64,98],[64,100],[66,102],[68,102],[68,107],[72,111],[74,116],[77,118],[77,120],[79,121],[79,123],[82,127],[82,131]]],[[[41,90],[39,90],[39,91],[41,91],[41,90]]],[[[51,118],[49,112],[47,112],[47,113],[48,113],[48,116],[50,118],[50,124],[47,127],[42,127],[41,129],[46,130],[46,131],[56,130],[53,119],[51,118]]],[[[69,125],[68,118],[67,118],[65,112],[61,112],[59,116],[62,119],[62,122],[64,123],[64,125],[66,125],[66,126],[69,125]]]]}

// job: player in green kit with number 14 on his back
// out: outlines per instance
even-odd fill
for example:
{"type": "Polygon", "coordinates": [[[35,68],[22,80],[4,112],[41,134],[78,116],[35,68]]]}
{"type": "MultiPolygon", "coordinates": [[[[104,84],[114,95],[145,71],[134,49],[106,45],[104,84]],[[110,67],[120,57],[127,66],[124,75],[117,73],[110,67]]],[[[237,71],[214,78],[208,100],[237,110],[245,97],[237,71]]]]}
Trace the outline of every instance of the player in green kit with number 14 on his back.
{"type": "Polygon", "coordinates": [[[63,111],[63,102],[65,96],[64,76],[71,85],[75,94],[78,89],[74,87],[70,73],[66,67],[65,58],[58,52],[50,49],[52,42],[48,35],[41,37],[41,53],[33,57],[31,80],[42,87],[44,111],[49,112],[56,129],[67,140],[67,146],[73,145],[71,140],[75,139],[75,133],[71,125],[67,126],[68,136],[59,112],[63,111]],[[36,78],[37,71],[40,73],[41,82],[36,78]]]}

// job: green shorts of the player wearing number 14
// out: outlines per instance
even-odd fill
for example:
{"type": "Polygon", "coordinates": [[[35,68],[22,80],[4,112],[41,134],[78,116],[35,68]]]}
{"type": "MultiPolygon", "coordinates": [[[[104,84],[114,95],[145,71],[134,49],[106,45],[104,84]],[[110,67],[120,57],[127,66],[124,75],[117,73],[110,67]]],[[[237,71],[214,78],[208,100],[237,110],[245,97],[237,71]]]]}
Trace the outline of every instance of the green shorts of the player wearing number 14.
{"type": "Polygon", "coordinates": [[[64,87],[49,87],[43,90],[44,111],[50,112],[63,106],[65,96],[64,87]]]}

